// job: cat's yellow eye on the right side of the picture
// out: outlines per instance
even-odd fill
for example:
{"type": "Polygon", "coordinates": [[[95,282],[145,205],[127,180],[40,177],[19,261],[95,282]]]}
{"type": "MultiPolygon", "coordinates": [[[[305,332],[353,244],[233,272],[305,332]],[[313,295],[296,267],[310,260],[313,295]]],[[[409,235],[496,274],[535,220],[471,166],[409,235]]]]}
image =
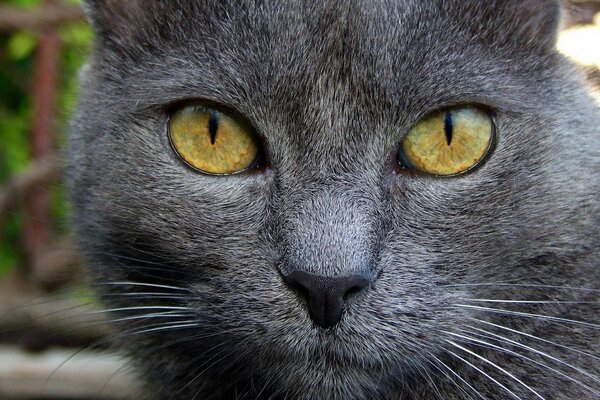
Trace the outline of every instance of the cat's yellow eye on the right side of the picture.
{"type": "Polygon", "coordinates": [[[494,123],[477,107],[437,111],[421,119],[406,135],[400,163],[430,175],[452,176],[481,163],[494,142],[494,123]]]}

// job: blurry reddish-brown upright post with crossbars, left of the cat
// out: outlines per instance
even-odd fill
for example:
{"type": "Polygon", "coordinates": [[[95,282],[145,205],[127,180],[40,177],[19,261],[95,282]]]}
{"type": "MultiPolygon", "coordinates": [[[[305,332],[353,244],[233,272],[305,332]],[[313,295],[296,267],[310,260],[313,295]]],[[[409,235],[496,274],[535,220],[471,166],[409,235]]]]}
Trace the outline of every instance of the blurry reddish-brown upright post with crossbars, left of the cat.
{"type": "MultiPolygon", "coordinates": [[[[30,127],[32,162],[25,171],[9,177],[0,187],[0,225],[19,205],[26,210],[21,226],[21,246],[27,257],[22,278],[36,286],[52,288],[77,274],[79,259],[64,237],[52,237],[49,184],[62,170],[54,148],[56,101],[60,87],[62,26],[84,21],[80,5],[43,0],[33,8],[0,4],[0,34],[29,31],[36,35],[34,71],[30,80],[33,114],[30,127]],[[65,273],[65,271],[69,271],[65,273]],[[61,278],[57,278],[58,275],[61,278]]],[[[0,237],[2,232],[0,231],[0,237]]]]}

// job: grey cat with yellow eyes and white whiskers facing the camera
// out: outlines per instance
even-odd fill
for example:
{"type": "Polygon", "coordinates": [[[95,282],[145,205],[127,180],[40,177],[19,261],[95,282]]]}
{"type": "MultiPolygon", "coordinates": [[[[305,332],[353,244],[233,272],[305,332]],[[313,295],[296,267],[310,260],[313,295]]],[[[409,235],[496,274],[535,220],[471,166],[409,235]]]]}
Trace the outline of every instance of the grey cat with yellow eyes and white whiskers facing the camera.
{"type": "Polygon", "coordinates": [[[88,0],[77,237],[158,399],[600,398],[550,0],[88,0]]]}

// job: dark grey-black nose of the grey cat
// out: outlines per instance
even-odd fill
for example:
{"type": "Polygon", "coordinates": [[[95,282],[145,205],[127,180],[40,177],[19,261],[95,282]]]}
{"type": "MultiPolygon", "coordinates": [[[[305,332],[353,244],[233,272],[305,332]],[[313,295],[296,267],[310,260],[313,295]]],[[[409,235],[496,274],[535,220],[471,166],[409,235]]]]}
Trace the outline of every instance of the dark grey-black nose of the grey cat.
{"type": "Polygon", "coordinates": [[[342,318],[344,297],[370,282],[361,275],[329,277],[298,270],[285,276],[285,280],[307,297],[310,316],[322,328],[337,324],[342,318]]]}

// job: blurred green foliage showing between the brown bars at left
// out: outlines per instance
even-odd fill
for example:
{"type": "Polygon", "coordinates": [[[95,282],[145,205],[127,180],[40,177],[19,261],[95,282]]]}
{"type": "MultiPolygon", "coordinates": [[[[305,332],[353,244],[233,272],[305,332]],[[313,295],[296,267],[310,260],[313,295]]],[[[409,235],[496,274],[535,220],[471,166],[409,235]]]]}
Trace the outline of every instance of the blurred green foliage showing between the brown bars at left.
{"type": "MultiPolygon", "coordinates": [[[[0,0],[0,5],[37,7],[41,0],[0,0]]],[[[79,3],[78,0],[69,1],[79,3]]],[[[64,26],[60,89],[56,98],[55,146],[62,151],[68,120],[75,106],[78,70],[85,61],[92,33],[85,23],[64,26]]],[[[29,134],[33,109],[31,82],[37,43],[36,33],[0,33],[0,187],[30,162],[29,134]]],[[[60,185],[51,188],[52,229],[64,234],[68,207],[60,185]]],[[[0,276],[24,261],[21,246],[22,210],[11,215],[0,229],[0,276]]]]}

